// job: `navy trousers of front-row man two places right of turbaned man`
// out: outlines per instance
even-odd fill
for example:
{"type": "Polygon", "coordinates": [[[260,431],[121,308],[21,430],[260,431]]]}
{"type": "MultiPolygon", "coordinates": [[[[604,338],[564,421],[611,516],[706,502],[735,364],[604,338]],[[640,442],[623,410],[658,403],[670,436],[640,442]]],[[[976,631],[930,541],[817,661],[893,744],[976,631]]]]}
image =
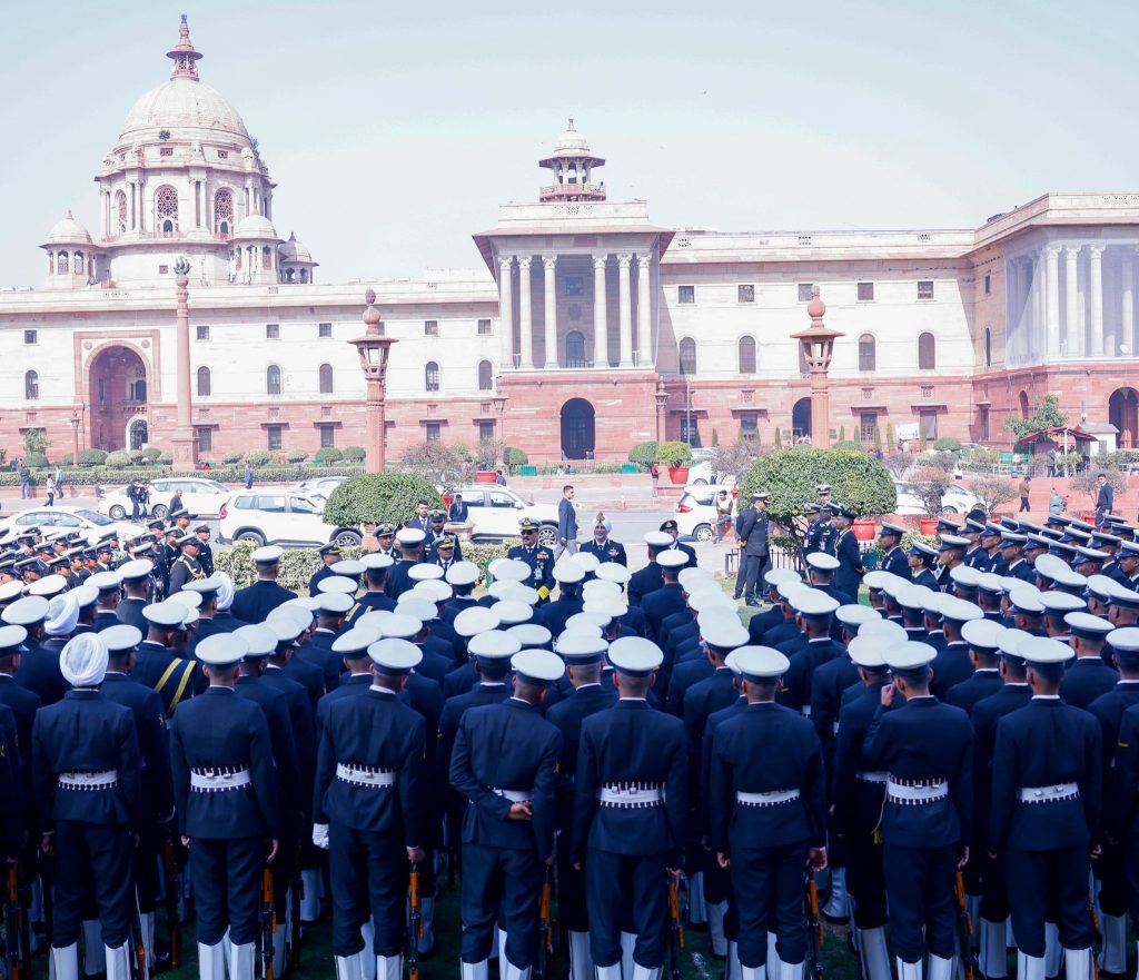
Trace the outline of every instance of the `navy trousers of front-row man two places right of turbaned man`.
{"type": "Polygon", "coordinates": [[[333,885],[333,953],[359,953],[363,948],[360,926],[370,917],[376,930],[376,955],[399,956],[405,932],[408,883],[403,841],[390,833],[329,824],[328,871],[333,885]]]}

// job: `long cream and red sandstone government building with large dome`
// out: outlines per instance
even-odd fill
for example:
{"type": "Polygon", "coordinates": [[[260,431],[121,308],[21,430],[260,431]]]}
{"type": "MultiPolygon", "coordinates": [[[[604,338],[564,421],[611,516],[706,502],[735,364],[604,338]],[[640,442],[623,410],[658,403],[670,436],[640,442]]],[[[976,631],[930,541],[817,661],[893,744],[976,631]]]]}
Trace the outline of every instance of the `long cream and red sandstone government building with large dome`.
{"type": "MultiPolygon", "coordinates": [[[[1056,392],[1073,420],[1139,444],[1139,194],[1046,194],[978,228],[663,228],[607,199],[571,121],[536,199],[474,235],[476,269],[325,283],[273,224],[277,187],[237,111],[199,77],[187,24],[171,77],[129,111],[82,217],[43,239],[43,288],[0,289],[0,446],[170,448],[189,375],[199,458],[362,444],[351,338],[375,288],[399,340],[388,454],[505,438],[532,462],[623,459],[715,428],[810,434],[792,334],[818,285],[842,332],[830,430],[887,424],[1007,444],[1003,422],[1056,392]],[[174,263],[190,262],[188,359],[174,263]],[[481,260],[481,261],[478,261],[481,260]],[[497,401],[495,397],[506,400],[497,401]],[[667,395],[667,398],[664,398],[667,395]]],[[[490,212],[490,209],[487,209],[490,212]]],[[[698,215],[697,215],[698,218],[698,215]]]]}

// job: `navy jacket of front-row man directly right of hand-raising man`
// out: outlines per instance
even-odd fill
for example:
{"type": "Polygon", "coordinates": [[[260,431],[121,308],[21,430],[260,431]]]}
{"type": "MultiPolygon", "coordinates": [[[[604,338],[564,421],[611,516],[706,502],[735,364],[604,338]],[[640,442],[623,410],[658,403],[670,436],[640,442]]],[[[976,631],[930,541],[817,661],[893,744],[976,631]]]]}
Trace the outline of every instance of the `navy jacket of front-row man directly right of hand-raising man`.
{"type": "Polygon", "coordinates": [[[997,724],[989,849],[1025,851],[1082,847],[1099,833],[1099,722],[1059,697],[1033,697],[997,724]],[[1023,803],[1018,792],[1075,783],[1079,797],[1023,803]]]}

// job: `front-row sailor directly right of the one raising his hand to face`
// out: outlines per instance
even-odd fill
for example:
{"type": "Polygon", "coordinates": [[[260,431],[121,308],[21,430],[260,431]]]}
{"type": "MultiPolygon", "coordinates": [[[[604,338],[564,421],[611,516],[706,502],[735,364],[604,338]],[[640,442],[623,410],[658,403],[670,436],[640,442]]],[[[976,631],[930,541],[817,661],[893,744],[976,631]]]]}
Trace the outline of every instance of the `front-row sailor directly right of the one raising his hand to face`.
{"type": "Polygon", "coordinates": [[[1044,917],[1058,910],[1072,980],[1091,975],[1089,855],[1099,832],[1100,732],[1059,695],[1072,651],[1043,637],[1023,640],[1029,705],[997,725],[989,850],[1003,855],[1019,980],[1044,977],[1044,917]]]}

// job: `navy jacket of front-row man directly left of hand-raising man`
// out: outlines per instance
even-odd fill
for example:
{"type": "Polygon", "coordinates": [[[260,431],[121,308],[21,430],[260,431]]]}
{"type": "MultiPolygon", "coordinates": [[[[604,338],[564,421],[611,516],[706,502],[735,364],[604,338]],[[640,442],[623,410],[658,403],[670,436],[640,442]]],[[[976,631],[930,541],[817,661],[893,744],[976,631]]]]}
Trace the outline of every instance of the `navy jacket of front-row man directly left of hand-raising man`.
{"type": "Polygon", "coordinates": [[[712,848],[823,846],[827,792],[822,752],[811,722],[773,702],[748,704],[716,727],[712,750],[712,848]],[[757,758],[763,765],[756,765],[757,758]],[[737,793],[798,790],[770,807],[738,803],[737,793]]]}

